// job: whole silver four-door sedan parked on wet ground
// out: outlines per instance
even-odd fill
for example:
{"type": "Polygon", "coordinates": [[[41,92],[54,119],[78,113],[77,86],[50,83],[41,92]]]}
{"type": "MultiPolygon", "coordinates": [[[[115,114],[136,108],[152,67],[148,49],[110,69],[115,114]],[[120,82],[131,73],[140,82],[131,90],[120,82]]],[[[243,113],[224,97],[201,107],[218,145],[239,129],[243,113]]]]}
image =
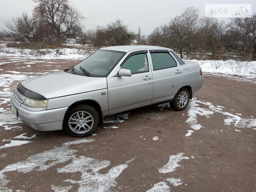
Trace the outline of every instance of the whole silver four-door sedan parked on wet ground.
{"type": "Polygon", "coordinates": [[[20,82],[12,112],[32,128],[91,135],[106,116],[156,103],[184,110],[202,87],[196,62],[156,46],[102,48],[70,69],[20,82]]]}

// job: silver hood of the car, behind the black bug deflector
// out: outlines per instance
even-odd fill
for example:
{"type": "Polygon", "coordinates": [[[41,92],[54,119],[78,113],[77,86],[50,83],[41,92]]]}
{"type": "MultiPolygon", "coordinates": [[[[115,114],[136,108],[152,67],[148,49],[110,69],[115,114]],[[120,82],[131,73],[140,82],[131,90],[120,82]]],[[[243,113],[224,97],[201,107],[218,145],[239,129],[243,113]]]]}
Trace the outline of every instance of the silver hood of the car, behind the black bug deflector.
{"type": "Polygon", "coordinates": [[[81,76],[64,71],[34,77],[21,84],[48,99],[107,88],[107,80],[104,77],[81,76]]]}

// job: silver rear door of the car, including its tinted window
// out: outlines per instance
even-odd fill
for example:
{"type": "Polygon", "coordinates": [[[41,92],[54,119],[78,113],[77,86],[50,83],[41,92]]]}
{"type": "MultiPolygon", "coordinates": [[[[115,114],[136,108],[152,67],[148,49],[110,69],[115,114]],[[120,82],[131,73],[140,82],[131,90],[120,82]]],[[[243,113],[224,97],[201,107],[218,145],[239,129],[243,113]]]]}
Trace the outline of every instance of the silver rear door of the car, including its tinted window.
{"type": "Polygon", "coordinates": [[[174,98],[184,74],[169,50],[150,50],[154,92],[152,103],[174,98]]]}

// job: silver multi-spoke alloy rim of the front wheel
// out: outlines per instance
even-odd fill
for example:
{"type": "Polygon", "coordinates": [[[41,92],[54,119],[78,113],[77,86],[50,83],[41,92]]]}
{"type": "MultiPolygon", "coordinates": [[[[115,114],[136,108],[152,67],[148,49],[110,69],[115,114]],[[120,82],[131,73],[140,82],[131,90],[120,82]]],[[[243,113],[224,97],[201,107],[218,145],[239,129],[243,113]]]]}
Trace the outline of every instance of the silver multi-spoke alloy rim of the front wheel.
{"type": "Polygon", "coordinates": [[[86,111],[75,112],[70,116],[68,120],[68,126],[70,130],[78,134],[89,132],[93,125],[94,119],[92,115],[86,111]]]}

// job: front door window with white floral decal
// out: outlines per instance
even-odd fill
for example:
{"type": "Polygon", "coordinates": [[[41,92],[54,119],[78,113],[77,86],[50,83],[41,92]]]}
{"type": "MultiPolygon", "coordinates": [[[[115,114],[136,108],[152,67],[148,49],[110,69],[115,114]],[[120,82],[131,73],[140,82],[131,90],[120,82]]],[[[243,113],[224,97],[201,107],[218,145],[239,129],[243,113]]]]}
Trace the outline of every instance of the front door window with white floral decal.
{"type": "Polygon", "coordinates": [[[132,74],[148,72],[148,58],[145,53],[133,55],[122,64],[121,68],[130,69],[132,74]]]}

